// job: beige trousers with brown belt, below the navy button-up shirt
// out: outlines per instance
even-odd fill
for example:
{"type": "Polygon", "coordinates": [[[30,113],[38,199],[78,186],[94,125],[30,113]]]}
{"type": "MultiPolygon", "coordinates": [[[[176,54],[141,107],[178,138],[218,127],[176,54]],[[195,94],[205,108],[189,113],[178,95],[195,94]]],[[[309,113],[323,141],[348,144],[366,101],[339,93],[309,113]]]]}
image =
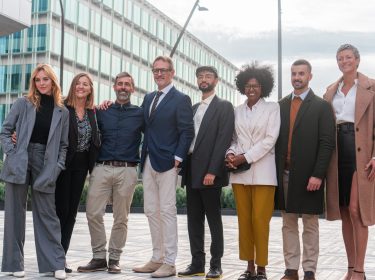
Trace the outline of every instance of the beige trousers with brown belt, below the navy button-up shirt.
{"type": "Polygon", "coordinates": [[[136,167],[97,165],[90,175],[86,217],[91,236],[93,257],[106,258],[106,232],[103,216],[112,201],[113,225],[109,239],[109,258],[119,260],[128,232],[128,215],[137,183],[136,167]]]}

